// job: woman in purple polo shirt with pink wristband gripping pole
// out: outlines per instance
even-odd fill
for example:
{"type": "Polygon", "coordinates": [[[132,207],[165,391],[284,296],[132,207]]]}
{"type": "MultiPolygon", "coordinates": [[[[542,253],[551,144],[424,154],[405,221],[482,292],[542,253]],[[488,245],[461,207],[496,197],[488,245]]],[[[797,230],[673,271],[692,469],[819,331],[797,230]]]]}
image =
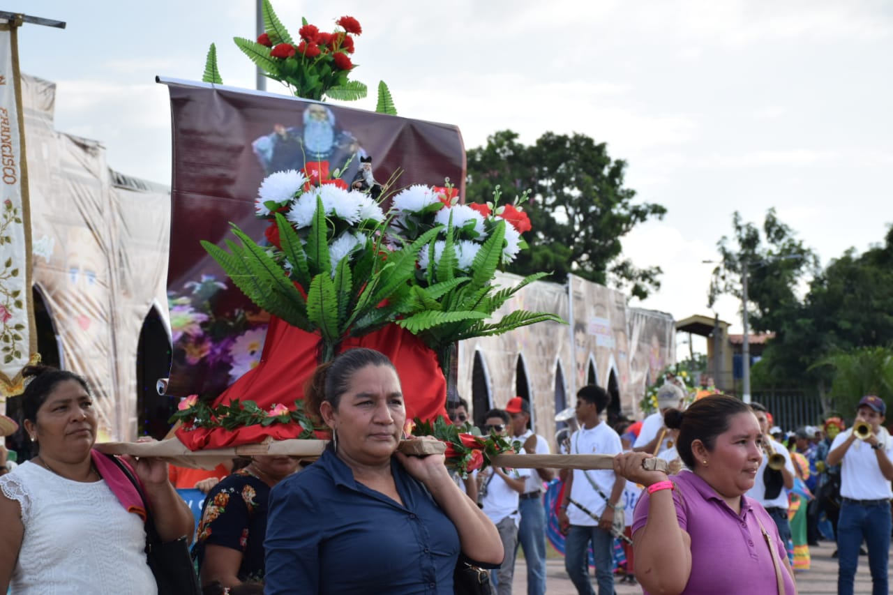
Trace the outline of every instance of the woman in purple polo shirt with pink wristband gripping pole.
{"type": "Polygon", "coordinates": [[[745,492],[763,460],[759,423],[737,398],[712,395],[683,412],[672,482],[624,453],[614,472],[646,486],[633,519],[636,578],[645,592],[797,593],[772,517],[745,492]]]}

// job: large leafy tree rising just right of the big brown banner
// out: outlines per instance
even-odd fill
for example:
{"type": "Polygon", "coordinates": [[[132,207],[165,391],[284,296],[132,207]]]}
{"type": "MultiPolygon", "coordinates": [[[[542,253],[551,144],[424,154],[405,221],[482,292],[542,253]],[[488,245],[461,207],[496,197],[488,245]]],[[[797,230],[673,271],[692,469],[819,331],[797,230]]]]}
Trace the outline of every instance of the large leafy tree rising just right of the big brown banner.
{"type": "Polygon", "coordinates": [[[662,219],[666,209],[635,203],[636,191],[623,186],[625,169],[626,162],[612,160],[605,143],[582,134],[546,132],[528,147],[517,133],[500,130],[484,147],[468,151],[466,199],[488,202],[497,186],[518,194],[530,189],[524,207],[533,225],[530,250],[510,272],[550,271],[553,281],[572,272],[646,298],[660,287],[660,267],[638,268],[623,259],[621,239],[650,217],[662,219]]]}

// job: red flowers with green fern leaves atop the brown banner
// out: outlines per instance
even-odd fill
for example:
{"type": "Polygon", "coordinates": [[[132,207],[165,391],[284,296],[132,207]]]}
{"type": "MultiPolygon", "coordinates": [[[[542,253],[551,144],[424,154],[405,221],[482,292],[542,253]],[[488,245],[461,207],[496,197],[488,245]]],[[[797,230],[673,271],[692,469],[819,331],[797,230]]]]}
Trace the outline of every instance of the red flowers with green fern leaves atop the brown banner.
{"type": "MultiPolygon", "coordinates": [[[[352,16],[342,16],[335,21],[335,29],[323,31],[302,19],[295,41],[276,16],[269,0],[263,0],[261,12],[264,32],[256,40],[233,38],[233,41],[264,76],[280,81],[292,94],[305,99],[321,101],[328,96],[355,101],[366,96],[367,88],[362,82],[348,79],[356,68],[352,57],[355,38],[363,33],[359,21],[352,16]]],[[[214,44],[205,58],[202,80],[223,83],[214,44]]],[[[396,115],[396,107],[384,81],[379,83],[376,111],[396,115]]]]}

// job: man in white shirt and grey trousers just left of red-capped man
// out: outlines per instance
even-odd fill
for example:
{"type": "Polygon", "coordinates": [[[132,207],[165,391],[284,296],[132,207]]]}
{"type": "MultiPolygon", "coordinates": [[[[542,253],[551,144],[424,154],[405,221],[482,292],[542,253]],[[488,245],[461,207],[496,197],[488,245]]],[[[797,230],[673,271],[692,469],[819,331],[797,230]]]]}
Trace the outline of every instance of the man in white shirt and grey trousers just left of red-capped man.
{"type": "MultiPolygon", "coordinates": [[[[484,433],[509,434],[511,418],[502,409],[490,409],[486,415],[484,433]]],[[[523,453],[523,450],[522,450],[523,453]]],[[[484,514],[497,525],[505,557],[503,563],[490,572],[490,582],[498,595],[511,595],[514,576],[514,554],[518,549],[519,496],[524,491],[530,469],[502,469],[488,467],[478,473],[480,506],[484,514]]]]}

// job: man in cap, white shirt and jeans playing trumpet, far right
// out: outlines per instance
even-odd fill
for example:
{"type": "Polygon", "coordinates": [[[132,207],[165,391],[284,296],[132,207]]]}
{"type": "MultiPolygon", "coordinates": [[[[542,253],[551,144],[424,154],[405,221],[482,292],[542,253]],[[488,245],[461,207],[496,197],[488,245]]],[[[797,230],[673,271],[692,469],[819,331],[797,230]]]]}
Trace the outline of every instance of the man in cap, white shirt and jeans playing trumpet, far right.
{"type": "Polygon", "coordinates": [[[840,464],[840,516],[838,519],[838,593],[851,595],[859,546],[868,547],[872,593],[887,593],[890,549],[890,481],[893,481],[893,440],[883,427],[887,405],[870,395],[859,400],[854,427],[831,442],[825,464],[840,464]],[[867,423],[864,440],[855,435],[857,423],[867,423]]]}

